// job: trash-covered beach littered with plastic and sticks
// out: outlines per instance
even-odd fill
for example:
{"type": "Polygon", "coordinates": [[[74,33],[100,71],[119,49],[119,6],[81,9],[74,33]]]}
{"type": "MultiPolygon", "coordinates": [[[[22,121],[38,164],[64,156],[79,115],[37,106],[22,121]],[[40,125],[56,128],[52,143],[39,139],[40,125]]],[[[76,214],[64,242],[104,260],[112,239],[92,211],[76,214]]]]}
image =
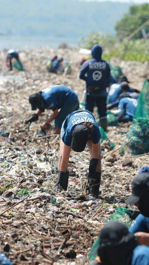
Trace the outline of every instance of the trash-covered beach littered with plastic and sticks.
{"type": "MultiPolygon", "coordinates": [[[[139,169],[149,163],[148,155],[131,156],[125,143],[131,123],[109,126],[103,139],[102,176],[99,199],[86,195],[85,180],[90,154],[72,152],[67,191],[53,191],[57,179],[60,136],[53,128],[40,134],[40,120],[30,126],[25,120],[33,113],[30,94],[50,85],[71,87],[81,98],[85,83],[79,80],[78,50],[50,48],[20,52],[26,71],[7,71],[6,52],[0,61],[0,252],[7,253],[13,264],[88,264],[88,253],[100,229],[117,207],[128,207],[124,200],[131,193],[131,181],[139,169]],[[57,53],[67,58],[72,72],[56,75],[46,70],[47,58],[57,53]],[[47,135],[49,135],[47,137],[47,135]],[[110,142],[114,144],[111,148],[110,142]]],[[[113,59],[141,90],[148,75],[147,62],[113,59]]],[[[96,112],[94,113],[97,117],[96,112]]],[[[134,207],[134,206],[133,206],[134,207]]]]}

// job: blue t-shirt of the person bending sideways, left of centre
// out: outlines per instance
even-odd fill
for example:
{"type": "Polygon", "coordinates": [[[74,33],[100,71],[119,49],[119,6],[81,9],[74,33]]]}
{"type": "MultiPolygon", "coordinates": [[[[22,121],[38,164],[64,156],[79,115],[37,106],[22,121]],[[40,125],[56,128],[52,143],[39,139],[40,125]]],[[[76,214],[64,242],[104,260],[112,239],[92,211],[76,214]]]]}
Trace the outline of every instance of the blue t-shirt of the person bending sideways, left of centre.
{"type": "Polygon", "coordinates": [[[60,109],[64,104],[75,102],[77,94],[64,85],[55,85],[42,90],[42,98],[44,99],[45,109],[60,109]]]}

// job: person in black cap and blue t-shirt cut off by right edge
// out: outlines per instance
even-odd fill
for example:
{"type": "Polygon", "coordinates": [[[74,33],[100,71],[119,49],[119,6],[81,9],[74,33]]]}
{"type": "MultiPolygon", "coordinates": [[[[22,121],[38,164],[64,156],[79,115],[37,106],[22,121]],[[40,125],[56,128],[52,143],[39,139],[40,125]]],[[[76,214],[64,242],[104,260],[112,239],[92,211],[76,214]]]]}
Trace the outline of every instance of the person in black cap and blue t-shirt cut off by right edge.
{"type": "Polygon", "coordinates": [[[135,204],[140,211],[129,232],[135,233],[139,244],[149,246],[149,167],[143,167],[138,176],[132,181],[132,194],[125,201],[135,204]]]}

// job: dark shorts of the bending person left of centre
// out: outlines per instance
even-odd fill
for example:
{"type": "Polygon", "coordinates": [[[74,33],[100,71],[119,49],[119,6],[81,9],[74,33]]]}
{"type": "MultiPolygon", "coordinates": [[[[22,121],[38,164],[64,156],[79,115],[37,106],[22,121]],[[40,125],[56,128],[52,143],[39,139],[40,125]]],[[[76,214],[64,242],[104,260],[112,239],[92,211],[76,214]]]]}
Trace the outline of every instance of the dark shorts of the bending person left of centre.
{"type": "Polygon", "coordinates": [[[58,117],[55,118],[55,127],[61,128],[63,121],[66,119],[67,115],[79,109],[79,101],[76,100],[69,104],[64,104],[61,107],[58,117]]]}

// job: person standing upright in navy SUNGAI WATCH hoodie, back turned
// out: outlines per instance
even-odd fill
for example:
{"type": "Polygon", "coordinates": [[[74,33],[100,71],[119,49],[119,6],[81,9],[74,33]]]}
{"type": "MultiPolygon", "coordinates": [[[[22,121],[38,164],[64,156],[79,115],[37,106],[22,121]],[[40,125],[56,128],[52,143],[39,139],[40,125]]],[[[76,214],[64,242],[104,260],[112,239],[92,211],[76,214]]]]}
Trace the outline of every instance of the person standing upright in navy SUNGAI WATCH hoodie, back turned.
{"type": "Polygon", "coordinates": [[[100,126],[107,130],[106,114],[106,84],[110,78],[109,64],[102,60],[102,47],[98,44],[91,49],[92,59],[87,60],[81,67],[80,79],[86,81],[87,97],[85,109],[93,112],[96,103],[99,113],[100,126]]]}

